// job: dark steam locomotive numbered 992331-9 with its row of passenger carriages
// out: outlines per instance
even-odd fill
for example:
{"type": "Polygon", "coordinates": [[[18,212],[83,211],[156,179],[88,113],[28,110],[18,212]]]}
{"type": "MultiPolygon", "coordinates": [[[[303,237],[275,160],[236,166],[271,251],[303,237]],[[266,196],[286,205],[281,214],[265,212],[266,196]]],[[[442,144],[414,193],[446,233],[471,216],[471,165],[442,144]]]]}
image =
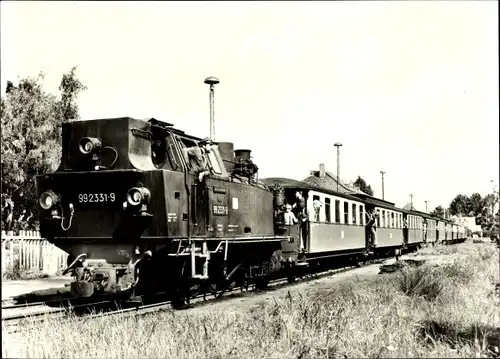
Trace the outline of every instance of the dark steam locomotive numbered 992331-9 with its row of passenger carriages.
{"type": "Polygon", "coordinates": [[[161,292],[180,307],[201,291],[265,288],[321,263],[467,237],[443,218],[258,170],[251,150],[155,118],[67,122],[58,169],[35,179],[40,232],[69,254],[75,297],[161,292]]]}

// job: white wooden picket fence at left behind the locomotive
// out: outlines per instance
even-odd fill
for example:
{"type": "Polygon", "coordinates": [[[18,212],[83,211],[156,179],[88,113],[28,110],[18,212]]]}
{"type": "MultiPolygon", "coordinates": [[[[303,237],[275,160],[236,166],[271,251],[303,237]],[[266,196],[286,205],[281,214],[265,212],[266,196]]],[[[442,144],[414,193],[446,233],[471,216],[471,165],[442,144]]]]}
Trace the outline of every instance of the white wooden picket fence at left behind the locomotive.
{"type": "Polygon", "coordinates": [[[68,254],[40,237],[38,231],[18,235],[2,231],[2,278],[8,273],[55,275],[66,268],[68,254]]]}

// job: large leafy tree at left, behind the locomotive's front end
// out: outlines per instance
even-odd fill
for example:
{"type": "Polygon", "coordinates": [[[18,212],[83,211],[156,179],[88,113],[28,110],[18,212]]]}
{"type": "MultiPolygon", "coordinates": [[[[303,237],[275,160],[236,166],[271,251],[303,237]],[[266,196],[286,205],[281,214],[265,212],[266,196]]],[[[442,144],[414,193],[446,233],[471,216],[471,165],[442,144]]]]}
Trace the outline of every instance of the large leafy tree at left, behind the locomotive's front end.
{"type": "Polygon", "coordinates": [[[78,117],[75,101],[85,87],[74,70],[63,76],[61,98],[43,90],[43,73],[21,79],[17,87],[7,82],[9,91],[1,98],[2,197],[12,198],[14,220],[22,218],[25,229],[36,228],[34,176],[57,169],[61,124],[68,114],[78,117]]]}

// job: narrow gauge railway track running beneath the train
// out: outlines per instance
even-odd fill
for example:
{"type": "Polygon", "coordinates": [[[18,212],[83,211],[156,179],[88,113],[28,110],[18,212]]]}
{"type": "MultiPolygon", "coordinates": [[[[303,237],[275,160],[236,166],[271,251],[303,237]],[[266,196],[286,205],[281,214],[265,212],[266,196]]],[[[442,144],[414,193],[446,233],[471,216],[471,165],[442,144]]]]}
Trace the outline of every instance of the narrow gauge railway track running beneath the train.
{"type": "MultiPolygon", "coordinates": [[[[387,260],[387,258],[377,258],[366,261],[365,266],[379,264],[387,260]]],[[[237,297],[241,297],[241,295],[245,295],[247,293],[255,293],[257,295],[264,295],[269,291],[274,291],[284,287],[293,287],[300,283],[307,283],[309,281],[325,278],[328,276],[333,276],[336,274],[340,274],[343,272],[351,271],[358,266],[356,264],[344,266],[341,268],[327,269],[322,272],[314,272],[314,273],[305,273],[303,277],[299,278],[296,282],[289,283],[286,278],[278,278],[272,280],[268,288],[265,290],[258,290],[253,286],[253,289],[244,287],[234,287],[232,289],[228,289],[225,292],[225,296],[217,297],[217,294],[199,294],[191,299],[191,305],[188,308],[194,308],[203,306],[204,304],[212,303],[214,301],[227,301],[237,297]],[[240,296],[238,295],[241,294],[240,296]]],[[[164,293],[157,293],[157,295],[161,295],[164,293]]],[[[144,296],[143,296],[144,297],[144,296]]],[[[142,298],[141,298],[142,299],[142,298]]],[[[55,302],[55,301],[52,301],[55,302]]],[[[41,322],[47,319],[56,319],[63,318],[71,314],[76,314],[82,319],[89,318],[97,318],[107,315],[143,315],[151,312],[156,312],[159,310],[170,310],[171,301],[160,301],[153,302],[148,304],[140,304],[140,302],[136,303],[119,303],[116,300],[105,300],[99,302],[91,302],[85,304],[78,305],[68,305],[63,306],[63,302],[68,302],[68,300],[61,301],[61,307],[49,307],[44,302],[36,302],[36,303],[27,303],[27,304],[17,304],[17,305],[9,305],[2,308],[2,327],[7,330],[8,333],[15,333],[19,331],[19,325],[23,321],[30,322],[41,322]],[[127,308],[122,308],[121,304],[127,306],[127,308]],[[9,315],[7,312],[22,310],[21,313],[13,313],[9,315]],[[24,309],[24,310],[23,310],[24,309]],[[37,310],[38,309],[38,310],[37,310]]],[[[186,308],[186,309],[188,309],[186,308]]]]}

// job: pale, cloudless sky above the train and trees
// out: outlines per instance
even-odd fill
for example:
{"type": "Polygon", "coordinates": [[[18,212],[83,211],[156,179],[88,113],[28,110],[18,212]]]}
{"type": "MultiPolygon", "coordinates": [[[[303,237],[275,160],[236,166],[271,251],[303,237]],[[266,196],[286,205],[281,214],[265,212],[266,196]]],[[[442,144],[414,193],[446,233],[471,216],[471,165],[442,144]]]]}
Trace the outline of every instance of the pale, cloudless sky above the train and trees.
{"type": "Polygon", "coordinates": [[[14,2],[1,86],[78,65],[83,120],[155,117],[252,150],[260,177],[324,163],[424,210],[499,182],[498,2],[14,2]]]}

